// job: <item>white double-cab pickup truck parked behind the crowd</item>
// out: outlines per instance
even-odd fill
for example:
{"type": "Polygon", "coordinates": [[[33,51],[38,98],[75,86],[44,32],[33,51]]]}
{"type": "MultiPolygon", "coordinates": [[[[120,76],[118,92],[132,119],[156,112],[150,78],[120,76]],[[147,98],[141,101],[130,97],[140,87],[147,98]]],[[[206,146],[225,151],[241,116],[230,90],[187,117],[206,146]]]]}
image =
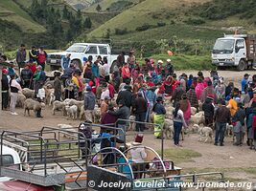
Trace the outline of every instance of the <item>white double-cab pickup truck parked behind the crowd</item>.
{"type": "MultiPolygon", "coordinates": [[[[80,68],[83,58],[88,58],[89,55],[92,55],[92,61],[95,61],[98,55],[101,55],[102,58],[106,57],[110,73],[112,73],[117,66],[118,54],[111,54],[111,48],[108,44],[75,43],[64,52],[48,53],[47,64],[51,66],[52,71],[58,70],[61,67],[61,58],[67,53],[71,54],[71,62],[75,63],[80,68]]],[[[125,60],[127,60],[127,57],[125,57],[125,60]]]]}

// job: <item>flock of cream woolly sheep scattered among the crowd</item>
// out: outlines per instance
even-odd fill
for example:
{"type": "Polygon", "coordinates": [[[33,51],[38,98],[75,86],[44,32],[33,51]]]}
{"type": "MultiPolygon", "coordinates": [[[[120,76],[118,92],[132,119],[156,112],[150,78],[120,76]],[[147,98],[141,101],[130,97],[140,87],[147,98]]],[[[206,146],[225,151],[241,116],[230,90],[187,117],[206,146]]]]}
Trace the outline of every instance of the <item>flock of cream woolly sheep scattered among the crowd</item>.
{"type": "MultiPolygon", "coordinates": [[[[22,93],[18,94],[17,97],[17,107],[23,107],[24,108],[24,116],[26,115],[26,112],[28,115],[30,115],[30,110],[33,110],[35,113],[36,111],[43,109],[45,107],[45,104],[49,105],[49,107],[52,107],[53,115],[56,115],[57,111],[61,111],[62,115],[64,117],[67,117],[67,119],[84,119],[84,106],[83,106],[83,100],[76,100],[76,99],[65,99],[63,101],[55,100],[54,96],[54,89],[51,87],[51,85],[46,84],[44,86],[45,91],[45,100],[43,102],[38,102],[33,97],[35,97],[35,91],[31,89],[24,88],[22,90],[22,93]]],[[[115,98],[114,98],[115,99],[115,98]]],[[[115,100],[113,100],[115,101],[115,100]]],[[[164,135],[165,138],[173,138],[174,136],[174,121],[173,121],[173,111],[174,107],[171,106],[171,103],[166,100],[165,102],[166,107],[166,117],[165,117],[165,123],[164,123],[164,135]]],[[[199,108],[201,108],[201,104],[199,104],[199,108]]],[[[198,133],[199,140],[202,141],[202,138],[204,137],[204,142],[208,141],[210,138],[212,140],[214,136],[213,129],[211,127],[204,126],[204,113],[203,111],[199,110],[197,113],[197,109],[192,107],[191,108],[191,121],[190,121],[190,127],[186,130],[187,133],[198,133]]],[[[99,123],[101,119],[101,111],[99,106],[96,104],[96,108],[94,110],[93,115],[93,122],[99,123]]],[[[130,116],[128,118],[129,127],[128,130],[134,130],[135,129],[135,117],[130,116]]],[[[153,117],[151,115],[151,122],[153,123],[153,117]]],[[[227,125],[226,128],[226,135],[229,135],[229,132],[232,130],[232,125],[227,125]]],[[[184,139],[184,129],[182,130],[182,139],[184,139]]]]}

